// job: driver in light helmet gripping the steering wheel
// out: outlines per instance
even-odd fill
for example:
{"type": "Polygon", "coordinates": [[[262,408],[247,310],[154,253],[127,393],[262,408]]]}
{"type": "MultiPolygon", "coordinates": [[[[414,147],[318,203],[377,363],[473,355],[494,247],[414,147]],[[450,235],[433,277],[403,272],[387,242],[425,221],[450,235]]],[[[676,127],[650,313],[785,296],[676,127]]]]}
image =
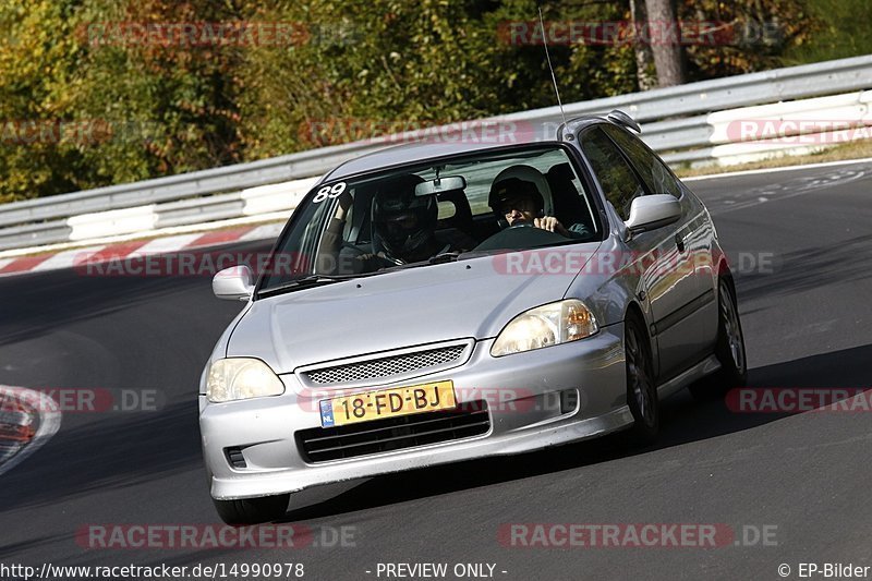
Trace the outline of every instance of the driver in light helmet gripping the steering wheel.
{"type": "Polygon", "coordinates": [[[494,183],[487,204],[497,220],[512,226],[532,226],[566,238],[583,238],[588,229],[580,223],[566,228],[554,216],[545,216],[545,203],[536,184],[520,178],[507,178],[494,183]]]}

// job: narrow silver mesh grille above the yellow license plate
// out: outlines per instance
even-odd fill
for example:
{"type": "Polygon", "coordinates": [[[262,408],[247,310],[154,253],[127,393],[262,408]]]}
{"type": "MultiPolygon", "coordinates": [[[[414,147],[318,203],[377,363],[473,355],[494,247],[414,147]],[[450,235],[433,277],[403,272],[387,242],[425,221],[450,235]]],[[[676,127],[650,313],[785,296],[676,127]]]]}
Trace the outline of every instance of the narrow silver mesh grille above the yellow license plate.
{"type": "Polygon", "coordinates": [[[424,372],[433,370],[433,367],[443,367],[457,362],[465,349],[465,344],[452,344],[414,353],[371,359],[360,363],[304,371],[302,374],[314,385],[382,379],[411,372],[424,372]]]}

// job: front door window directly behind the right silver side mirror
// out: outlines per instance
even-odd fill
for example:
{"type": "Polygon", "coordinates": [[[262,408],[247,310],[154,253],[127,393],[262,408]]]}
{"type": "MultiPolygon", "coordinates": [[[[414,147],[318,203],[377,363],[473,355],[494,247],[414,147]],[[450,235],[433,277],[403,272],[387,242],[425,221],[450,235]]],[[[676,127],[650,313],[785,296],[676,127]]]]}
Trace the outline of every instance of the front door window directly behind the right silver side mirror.
{"type": "Polygon", "coordinates": [[[622,220],[630,217],[633,198],[644,189],[615,143],[600,128],[581,134],[581,149],[591,162],[603,192],[622,220]]]}

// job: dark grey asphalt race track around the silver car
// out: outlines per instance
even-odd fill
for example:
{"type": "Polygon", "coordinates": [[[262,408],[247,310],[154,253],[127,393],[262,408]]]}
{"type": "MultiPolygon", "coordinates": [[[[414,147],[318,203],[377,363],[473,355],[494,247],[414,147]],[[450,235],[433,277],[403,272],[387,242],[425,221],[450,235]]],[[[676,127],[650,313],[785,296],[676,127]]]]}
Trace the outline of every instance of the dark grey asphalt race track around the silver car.
{"type": "MultiPolygon", "coordinates": [[[[744,261],[750,385],[872,386],[872,164],[690,185],[744,261]]],[[[870,413],[735,413],[686,392],[664,402],[651,448],[615,436],[303,493],[287,521],[320,546],[84,548],[75,535],[90,524],[218,523],[195,394],[239,306],[215,300],[205,277],[73,270],[2,279],[0,296],[0,384],[128,390],[160,408],[65,413],[0,476],[0,564],[293,561],[318,580],[376,579],[378,562],[447,562],[449,573],[493,564],[507,580],[779,579],[780,564],[790,578],[802,561],[872,565],[870,413]],[[498,540],[505,523],[720,523],[753,546],[511,547],[498,540]],[[341,528],[354,546],[324,546],[341,528]],[[755,531],[771,536],[752,543],[755,531]]]]}

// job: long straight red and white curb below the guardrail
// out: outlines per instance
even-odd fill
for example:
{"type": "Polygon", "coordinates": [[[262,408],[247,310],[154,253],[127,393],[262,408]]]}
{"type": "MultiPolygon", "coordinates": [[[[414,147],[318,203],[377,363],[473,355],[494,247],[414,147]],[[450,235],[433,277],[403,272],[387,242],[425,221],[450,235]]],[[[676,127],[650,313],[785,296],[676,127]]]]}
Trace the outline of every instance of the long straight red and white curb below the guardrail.
{"type": "Polygon", "coordinates": [[[83,263],[95,264],[101,261],[119,261],[155,254],[167,254],[183,250],[206,249],[233,242],[275,240],[281,232],[283,226],[283,223],[244,226],[153,240],[132,240],[111,244],[83,246],[32,256],[0,258],[0,277],[73,268],[83,263]]]}

